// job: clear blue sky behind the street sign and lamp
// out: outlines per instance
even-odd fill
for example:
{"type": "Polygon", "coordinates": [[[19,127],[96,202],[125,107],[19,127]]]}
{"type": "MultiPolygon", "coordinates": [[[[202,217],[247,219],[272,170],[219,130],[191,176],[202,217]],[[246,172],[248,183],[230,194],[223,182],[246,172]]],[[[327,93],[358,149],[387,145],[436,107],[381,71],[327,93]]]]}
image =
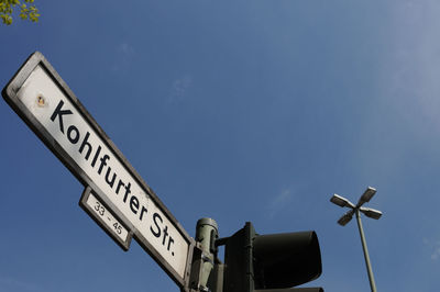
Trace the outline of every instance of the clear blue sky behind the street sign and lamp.
{"type": "MultiPolygon", "coordinates": [[[[194,236],[315,229],[326,291],[440,285],[440,3],[36,1],[0,25],[0,86],[40,50],[194,236]]],[[[82,186],[0,104],[0,291],[178,291],[78,206],[82,186]]],[[[437,287],[437,289],[436,289],[437,287]]]]}

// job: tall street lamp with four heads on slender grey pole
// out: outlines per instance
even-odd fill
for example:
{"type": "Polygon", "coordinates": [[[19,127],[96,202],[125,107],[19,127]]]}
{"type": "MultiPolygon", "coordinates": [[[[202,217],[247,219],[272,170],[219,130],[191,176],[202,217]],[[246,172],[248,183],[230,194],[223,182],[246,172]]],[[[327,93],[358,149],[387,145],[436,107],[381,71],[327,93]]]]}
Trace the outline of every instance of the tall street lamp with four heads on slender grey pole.
{"type": "Polygon", "coordinates": [[[364,235],[364,229],[362,227],[362,222],[361,222],[361,212],[371,218],[378,220],[382,216],[382,212],[378,210],[374,210],[371,207],[364,207],[362,206],[364,203],[370,202],[370,200],[373,198],[373,195],[376,193],[376,190],[374,188],[369,187],[365,192],[361,195],[361,198],[358,201],[358,204],[354,205],[352,202],[346,200],[345,198],[333,194],[333,196],[330,199],[330,202],[341,206],[341,207],[350,207],[350,210],[342,215],[342,217],[338,221],[338,223],[342,226],[345,226],[353,217],[353,214],[356,214],[356,220],[358,220],[358,227],[359,227],[359,233],[361,235],[361,242],[362,242],[362,247],[364,250],[364,258],[365,258],[365,263],[366,263],[366,270],[369,272],[369,279],[370,279],[370,287],[372,292],[376,292],[376,284],[374,282],[374,277],[373,277],[373,271],[371,268],[370,263],[370,256],[369,256],[369,249],[366,248],[366,242],[365,242],[365,235],[364,235]]]}

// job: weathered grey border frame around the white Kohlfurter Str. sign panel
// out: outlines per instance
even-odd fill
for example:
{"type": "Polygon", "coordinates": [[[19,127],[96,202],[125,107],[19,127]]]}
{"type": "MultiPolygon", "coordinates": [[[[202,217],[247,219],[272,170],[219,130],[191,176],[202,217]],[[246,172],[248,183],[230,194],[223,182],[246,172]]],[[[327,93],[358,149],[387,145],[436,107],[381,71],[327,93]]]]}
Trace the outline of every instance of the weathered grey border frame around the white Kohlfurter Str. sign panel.
{"type": "Polygon", "coordinates": [[[35,52],[29,56],[29,58],[23,63],[20,69],[11,78],[1,92],[6,102],[12,108],[12,110],[25,122],[25,124],[34,132],[34,134],[46,145],[46,147],[63,162],[63,165],[76,177],[86,188],[89,186],[94,193],[99,196],[119,218],[122,218],[129,232],[133,234],[138,244],[161,266],[161,268],[172,278],[172,280],[179,285],[183,291],[189,291],[189,276],[194,248],[196,242],[188,233],[184,229],[180,223],[174,217],[169,210],[164,205],[164,203],[158,199],[154,191],[148,184],[142,179],[134,167],[128,161],[119,148],[109,138],[106,132],[100,127],[100,125],[95,121],[91,114],[86,110],[82,103],[78,100],[75,93],[70,90],[67,83],[62,79],[54,67],[48,63],[48,60],[43,56],[42,53],[35,52]],[[24,106],[23,103],[18,99],[16,94],[20,88],[23,86],[25,80],[32,74],[32,71],[41,66],[48,77],[54,81],[54,83],[62,90],[65,97],[73,103],[76,110],[79,112],[81,117],[89,123],[98,136],[107,144],[112,154],[120,160],[120,162],[125,167],[127,171],[133,177],[133,179],[140,184],[140,187],[145,191],[147,195],[151,196],[156,206],[164,213],[164,215],[169,220],[169,222],[176,227],[178,233],[188,244],[188,255],[186,260],[186,267],[184,271],[184,277],[180,277],[172,266],[154,249],[154,247],[146,240],[141,233],[133,228],[130,221],[124,220],[125,216],[113,205],[113,203],[107,199],[106,194],[101,194],[99,188],[95,182],[79,168],[79,166],[74,161],[73,158],[67,154],[66,150],[50,135],[50,133],[42,126],[42,124],[33,116],[33,114],[24,106]]]}

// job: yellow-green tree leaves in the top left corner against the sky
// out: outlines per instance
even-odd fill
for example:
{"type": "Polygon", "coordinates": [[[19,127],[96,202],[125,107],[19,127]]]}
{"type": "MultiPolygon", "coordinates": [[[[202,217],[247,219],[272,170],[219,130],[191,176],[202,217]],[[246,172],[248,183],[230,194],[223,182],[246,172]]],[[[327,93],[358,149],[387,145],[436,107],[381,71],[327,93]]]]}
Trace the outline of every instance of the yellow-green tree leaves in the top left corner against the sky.
{"type": "Polygon", "coordinates": [[[3,24],[12,24],[13,10],[20,8],[20,18],[37,22],[40,18],[38,9],[33,4],[34,0],[0,0],[0,18],[3,24]]]}

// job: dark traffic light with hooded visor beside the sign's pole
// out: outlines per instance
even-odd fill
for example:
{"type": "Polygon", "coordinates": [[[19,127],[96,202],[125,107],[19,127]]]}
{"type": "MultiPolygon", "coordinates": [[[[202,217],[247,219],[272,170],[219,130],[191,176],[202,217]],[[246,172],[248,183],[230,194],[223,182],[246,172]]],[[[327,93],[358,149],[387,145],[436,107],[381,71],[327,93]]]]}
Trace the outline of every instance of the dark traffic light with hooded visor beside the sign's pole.
{"type": "Polygon", "coordinates": [[[321,252],[315,232],[258,235],[252,223],[224,245],[223,292],[320,292],[321,288],[292,288],[321,274],[321,252]]]}

